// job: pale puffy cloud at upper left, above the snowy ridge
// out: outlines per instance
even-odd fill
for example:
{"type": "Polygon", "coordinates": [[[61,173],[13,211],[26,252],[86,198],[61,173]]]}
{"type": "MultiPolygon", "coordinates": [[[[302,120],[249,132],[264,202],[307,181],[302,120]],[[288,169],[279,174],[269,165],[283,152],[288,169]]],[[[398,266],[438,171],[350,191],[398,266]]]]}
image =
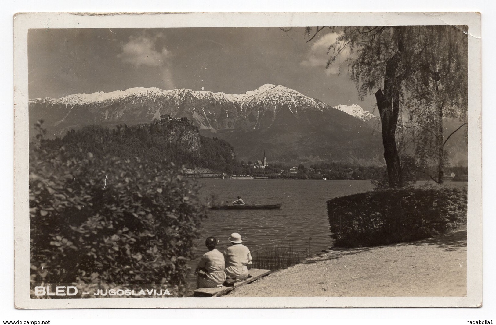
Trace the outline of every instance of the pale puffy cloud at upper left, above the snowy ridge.
{"type": "Polygon", "coordinates": [[[164,46],[157,50],[155,43],[157,37],[131,36],[129,41],[122,46],[122,52],[117,57],[124,63],[135,67],[141,65],[157,67],[169,63],[172,53],[164,46]]]}

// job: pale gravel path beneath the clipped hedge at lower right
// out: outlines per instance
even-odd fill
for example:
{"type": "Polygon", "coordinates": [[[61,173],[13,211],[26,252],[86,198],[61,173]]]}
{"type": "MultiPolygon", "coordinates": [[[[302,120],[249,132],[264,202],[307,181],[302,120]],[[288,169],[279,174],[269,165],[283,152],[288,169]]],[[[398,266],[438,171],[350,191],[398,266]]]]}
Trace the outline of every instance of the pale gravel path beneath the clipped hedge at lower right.
{"type": "Polygon", "coordinates": [[[329,249],[229,297],[465,296],[467,232],[387,246],[329,249]]]}

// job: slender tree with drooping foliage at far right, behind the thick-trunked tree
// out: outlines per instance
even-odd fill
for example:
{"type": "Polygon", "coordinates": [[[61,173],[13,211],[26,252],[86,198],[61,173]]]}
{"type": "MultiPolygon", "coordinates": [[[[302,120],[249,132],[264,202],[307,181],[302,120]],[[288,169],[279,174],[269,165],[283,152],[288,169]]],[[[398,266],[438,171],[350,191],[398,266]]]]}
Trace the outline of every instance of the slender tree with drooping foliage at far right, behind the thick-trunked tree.
{"type": "Polygon", "coordinates": [[[468,36],[462,32],[466,26],[461,28],[424,28],[423,37],[432,45],[422,53],[405,102],[410,115],[406,128],[414,131],[417,168],[439,184],[443,183],[447,162],[444,146],[467,124],[468,36]],[[444,118],[460,121],[446,138],[444,118]],[[433,166],[434,177],[428,172],[433,166]]]}

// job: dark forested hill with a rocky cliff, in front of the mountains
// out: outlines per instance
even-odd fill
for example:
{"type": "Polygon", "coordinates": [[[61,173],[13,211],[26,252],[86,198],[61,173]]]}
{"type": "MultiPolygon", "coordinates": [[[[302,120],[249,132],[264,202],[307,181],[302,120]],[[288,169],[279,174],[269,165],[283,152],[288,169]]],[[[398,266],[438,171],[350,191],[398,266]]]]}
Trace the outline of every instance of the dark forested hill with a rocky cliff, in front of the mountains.
{"type": "Polygon", "coordinates": [[[122,159],[138,157],[148,162],[167,159],[187,168],[202,167],[229,174],[239,165],[232,145],[200,136],[198,129],[187,121],[163,119],[132,127],[119,125],[112,130],[87,126],[67,131],[62,139],[45,139],[44,142],[50,148],[64,146],[69,151],[83,150],[122,159]]]}

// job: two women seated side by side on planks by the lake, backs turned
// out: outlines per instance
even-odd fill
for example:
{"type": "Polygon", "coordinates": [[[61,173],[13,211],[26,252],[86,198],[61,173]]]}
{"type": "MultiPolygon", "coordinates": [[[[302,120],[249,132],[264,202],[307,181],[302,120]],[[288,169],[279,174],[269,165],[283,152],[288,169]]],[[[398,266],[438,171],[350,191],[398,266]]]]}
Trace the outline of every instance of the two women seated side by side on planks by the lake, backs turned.
{"type": "Polygon", "coordinates": [[[242,244],[241,235],[237,232],[231,234],[229,241],[231,246],[224,254],[215,248],[215,237],[208,237],[205,241],[208,252],[203,254],[195,271],[198,288],[220,287],[226,280],[235,282],[248,278],[247,266],[251,264],[248,247],[242,244]]]}

